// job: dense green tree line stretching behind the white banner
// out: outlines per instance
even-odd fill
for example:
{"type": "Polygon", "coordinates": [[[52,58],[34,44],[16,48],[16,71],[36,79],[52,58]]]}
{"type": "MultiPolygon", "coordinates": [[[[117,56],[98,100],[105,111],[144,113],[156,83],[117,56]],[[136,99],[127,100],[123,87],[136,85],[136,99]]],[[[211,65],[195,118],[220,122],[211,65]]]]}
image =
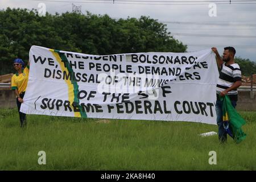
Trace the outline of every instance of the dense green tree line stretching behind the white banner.
{"type": "MultiPolygon", "coordinates": [[[[147,16],[113,19],[77,13],[39,16],[36,10],[0,10],[0,75],[13,73],[13,60],[27,61],[30,47],[42,46],[93,55],[131,52],[186,52],[166,24],[147,16]]],[[[256,73],[256,63],[236,57],[242,75],[256,73]]]]}

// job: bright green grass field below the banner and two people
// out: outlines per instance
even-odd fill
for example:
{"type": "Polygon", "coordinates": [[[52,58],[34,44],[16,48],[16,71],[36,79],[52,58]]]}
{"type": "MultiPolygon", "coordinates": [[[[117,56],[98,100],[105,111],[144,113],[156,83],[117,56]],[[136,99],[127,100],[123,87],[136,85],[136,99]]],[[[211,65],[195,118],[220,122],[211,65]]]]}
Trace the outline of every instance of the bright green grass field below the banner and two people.
{"type": "Polygon", "coordinates": [[[0,170],[256,170],[256,112],[240,111],[247,138],[220,144],[216,125],[80,119],[28,115],[19,127],[18,111],[0,110],[0,170]],[[39,151],[46,165],[39,165],[39,151]],[[209,151],[217,152],[210,165],[209,151]]]}

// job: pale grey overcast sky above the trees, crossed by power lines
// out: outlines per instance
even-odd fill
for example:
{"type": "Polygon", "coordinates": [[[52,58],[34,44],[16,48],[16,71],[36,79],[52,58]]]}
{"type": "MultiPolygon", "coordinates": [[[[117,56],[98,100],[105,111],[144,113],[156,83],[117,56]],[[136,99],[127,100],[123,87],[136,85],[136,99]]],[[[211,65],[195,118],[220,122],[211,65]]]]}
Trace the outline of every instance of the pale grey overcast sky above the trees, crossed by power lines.
{"type": "Polygon", "coordinates": [[[212,1],[216,3],[216,16],[209,16],[209,11],[214,14],[214,9],[208,7],[210,1],[184,1],[115,0],[113,3],[106,0],[0,0],[0,9],[19,7],[39,10],[39,4],[44,3],[46,11],[55,14],[71,12],[74,3],[81,6],[84,14],[90,11],[93,14],[108,14],[112,18],[146,15],[167,24],[174,38],[188,45],[188,51],[216,46],[222,55],[225,46],[233,46],[237,50],[236,56],[256,61],[256,1],[233,0],[231,4],[228,0],[212,1]]]}

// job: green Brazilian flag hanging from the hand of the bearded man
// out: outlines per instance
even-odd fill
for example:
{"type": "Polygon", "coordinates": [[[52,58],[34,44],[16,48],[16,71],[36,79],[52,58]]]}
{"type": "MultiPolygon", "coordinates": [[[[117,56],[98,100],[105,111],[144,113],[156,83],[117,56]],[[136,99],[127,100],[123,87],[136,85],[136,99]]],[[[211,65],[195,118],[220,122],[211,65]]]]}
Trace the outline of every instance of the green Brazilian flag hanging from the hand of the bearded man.
{"type": "Polygon", "coordinates": [[[229,97],[220,97],[222,102],[222,113],[223,113],[223,122],[224,129],[226,133],[234,139],[236,143],[240,143],[246,138],[246,134],[243,133],[241,127],[245,125],[245,119],[237,113],[237,110],[231,104],[229,97]]]}

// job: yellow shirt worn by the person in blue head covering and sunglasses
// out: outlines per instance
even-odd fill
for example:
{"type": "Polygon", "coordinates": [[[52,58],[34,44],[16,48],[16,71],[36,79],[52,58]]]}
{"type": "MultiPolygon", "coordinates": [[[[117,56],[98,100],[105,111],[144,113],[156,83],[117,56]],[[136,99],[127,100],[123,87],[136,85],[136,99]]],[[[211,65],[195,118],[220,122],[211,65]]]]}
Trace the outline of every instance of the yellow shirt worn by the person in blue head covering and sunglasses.
{"type": "Polygon", "coordinates": [[[22,70],[22,73],[13,75],[13,77],[11,77],[11,90],[18,89],[19,94],[25,92],[29,72],[30,67],[27,65],[27,67],[22,70]]]}

